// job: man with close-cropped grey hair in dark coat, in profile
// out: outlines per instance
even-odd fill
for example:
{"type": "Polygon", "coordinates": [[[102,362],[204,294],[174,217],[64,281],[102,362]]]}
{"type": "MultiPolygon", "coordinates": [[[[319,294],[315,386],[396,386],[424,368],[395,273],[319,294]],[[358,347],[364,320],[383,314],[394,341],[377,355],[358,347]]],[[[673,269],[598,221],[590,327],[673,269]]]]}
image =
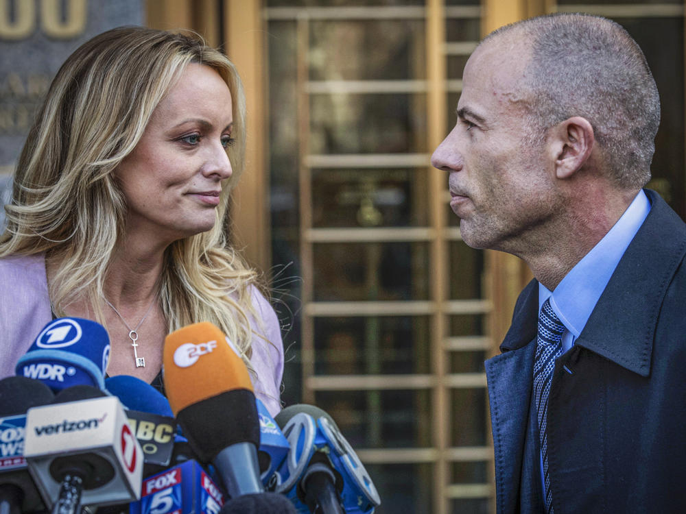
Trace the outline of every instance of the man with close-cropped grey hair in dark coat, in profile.
{"type": "Polygon", "coordinates": [[[686,225],[650,180],[660,102],[617,23],[493,32],[431,158],[464,241],[521,257],[486,362],[499,513],[686,512],[686,225]]]}

